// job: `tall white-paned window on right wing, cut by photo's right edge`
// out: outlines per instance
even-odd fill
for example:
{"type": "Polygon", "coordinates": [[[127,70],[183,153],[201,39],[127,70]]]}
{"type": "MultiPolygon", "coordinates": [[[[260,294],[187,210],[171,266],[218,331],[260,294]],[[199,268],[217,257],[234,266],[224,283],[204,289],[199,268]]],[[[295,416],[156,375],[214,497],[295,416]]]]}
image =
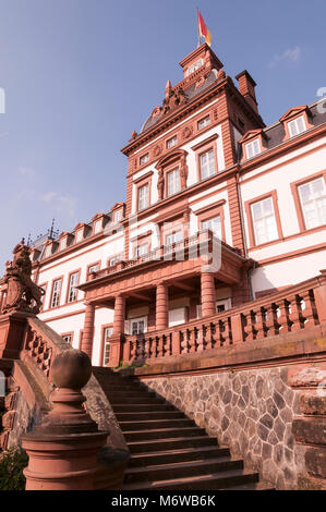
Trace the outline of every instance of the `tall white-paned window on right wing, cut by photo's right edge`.
{"type": "Polygon", "coordinates": [[[326,223],[326,185],[323,178],[298,186],[306,229],[326,223]]]}

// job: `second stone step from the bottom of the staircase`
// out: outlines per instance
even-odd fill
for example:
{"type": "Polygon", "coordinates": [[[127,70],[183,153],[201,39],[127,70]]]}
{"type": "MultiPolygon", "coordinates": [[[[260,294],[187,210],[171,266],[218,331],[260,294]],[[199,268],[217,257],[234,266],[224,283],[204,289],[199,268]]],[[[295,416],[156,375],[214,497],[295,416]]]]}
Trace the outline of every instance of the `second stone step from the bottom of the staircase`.
{"type": "Polygon", "coordinates": [[[243,461],[233,461],[230,456],[213,458],[204,461],[173,462],[172,464],[156,464],[147,467],[132,467],[126,470],[124,484],[210,475],[212,473],[242,468],[243,461]]]}

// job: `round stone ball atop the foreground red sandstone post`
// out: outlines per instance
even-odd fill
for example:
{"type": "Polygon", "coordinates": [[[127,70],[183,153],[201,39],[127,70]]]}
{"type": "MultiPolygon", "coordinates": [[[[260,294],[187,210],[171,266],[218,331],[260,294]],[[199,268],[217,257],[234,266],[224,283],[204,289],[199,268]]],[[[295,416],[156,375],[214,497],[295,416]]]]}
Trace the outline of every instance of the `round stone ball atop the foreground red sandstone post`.
{"type": "Polygon", "coordinates": [[[76,349],[70,349],[55,358],[50,381],[57,388],[80,390],[90,379],[92,363],[87,354],[76,349]]]}

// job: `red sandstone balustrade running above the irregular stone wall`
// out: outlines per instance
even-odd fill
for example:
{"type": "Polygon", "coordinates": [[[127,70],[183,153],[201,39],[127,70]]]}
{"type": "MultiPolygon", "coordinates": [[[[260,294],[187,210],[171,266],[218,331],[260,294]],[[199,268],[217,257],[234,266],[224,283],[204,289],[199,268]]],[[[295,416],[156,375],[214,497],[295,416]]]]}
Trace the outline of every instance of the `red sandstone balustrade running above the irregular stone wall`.
{"type": "Polygon", "coordinates": [[[321,277],[204,319],[140,336],[125,334],[123,362],[150,363],[306,330],[325,322],[326,270],[322,270],[321,277]]]}

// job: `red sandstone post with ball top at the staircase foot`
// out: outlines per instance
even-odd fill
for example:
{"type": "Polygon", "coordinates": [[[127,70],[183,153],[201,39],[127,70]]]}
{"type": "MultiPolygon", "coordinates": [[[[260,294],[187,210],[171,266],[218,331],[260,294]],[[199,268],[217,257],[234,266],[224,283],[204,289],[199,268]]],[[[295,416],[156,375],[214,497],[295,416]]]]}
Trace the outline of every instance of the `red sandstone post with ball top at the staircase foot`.
{"type": "Polygon", "coordinates": [[[97,475],[102,471],[98,453],[109,432],[98,431],[83,407],[86,399],[81,389],[90,375],[89,357],[79,350],[67,350],[53,361],[50,373],[56,386],[50,397],[53,410],[22,438],[22,447],[29,456],[24,470],[26,490],[97,488],[97,475]]]}

